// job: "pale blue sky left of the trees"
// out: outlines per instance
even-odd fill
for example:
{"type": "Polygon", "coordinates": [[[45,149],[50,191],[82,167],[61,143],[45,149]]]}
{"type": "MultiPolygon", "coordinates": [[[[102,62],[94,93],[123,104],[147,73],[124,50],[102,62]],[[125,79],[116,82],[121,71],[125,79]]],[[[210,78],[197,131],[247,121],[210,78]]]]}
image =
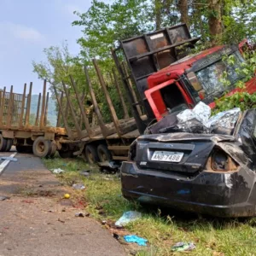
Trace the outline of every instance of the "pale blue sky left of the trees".
{"type": "Polygon", "coordinates": [[[79,54],[82,28],[71,25],[77,19],[73,11],[89,8],[90,0],[0,0],[0,88],[14,85],[22,93],[24,84],[33,82],[32,94],[41,92],[43,81],[32,72],[32,61],[44,61],[44,48],[65,40],[71,54],[79,54]]]}

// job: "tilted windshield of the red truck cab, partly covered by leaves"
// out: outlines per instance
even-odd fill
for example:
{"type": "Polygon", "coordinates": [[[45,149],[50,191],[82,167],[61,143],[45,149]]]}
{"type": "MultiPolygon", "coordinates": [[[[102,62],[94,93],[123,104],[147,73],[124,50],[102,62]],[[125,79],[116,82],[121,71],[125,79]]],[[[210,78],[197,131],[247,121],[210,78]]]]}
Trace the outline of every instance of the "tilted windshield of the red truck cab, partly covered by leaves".
{"type": "Polygon", "coordinates": [[[234,64],[229,65],[227,61],[217,61],[195,72],[195,76],[198,79],[198,84],[195,90],[204,90],[205,96],[219,95],[224,93],[229,88],[224,87],[221,81],[224,71],[227,72],[227,79],[230,81],[230,87],[236,84],[236,81],[242,78],[241,74],[236,72],[236,69],[241,67],[241,63],[244,61],[240,52],[236,51],[232,54],[234,56],[234,64]]]}

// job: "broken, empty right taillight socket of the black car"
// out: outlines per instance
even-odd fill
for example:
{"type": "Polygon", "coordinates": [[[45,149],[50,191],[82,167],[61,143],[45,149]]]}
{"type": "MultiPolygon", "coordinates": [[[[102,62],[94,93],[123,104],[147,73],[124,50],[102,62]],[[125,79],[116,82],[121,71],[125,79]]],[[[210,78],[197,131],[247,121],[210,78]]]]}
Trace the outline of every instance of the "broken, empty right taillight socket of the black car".
{"type": "Polygon", "coordinates": [[[207,160],[207,171],[213,172],[236,172],[238,164],[229,154],[221,148],[213,148],[212,154],[207,160]]]}

